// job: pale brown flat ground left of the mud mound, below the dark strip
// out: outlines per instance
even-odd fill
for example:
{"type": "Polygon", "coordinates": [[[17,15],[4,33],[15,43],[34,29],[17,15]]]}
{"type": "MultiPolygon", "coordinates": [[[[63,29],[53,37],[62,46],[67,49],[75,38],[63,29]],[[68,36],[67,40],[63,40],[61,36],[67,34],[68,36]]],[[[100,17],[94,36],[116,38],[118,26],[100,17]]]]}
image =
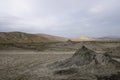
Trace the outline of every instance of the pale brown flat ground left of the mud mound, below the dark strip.
{"type": "MultiPolygon", "coordinates": [[[[47,76],[49,70],[46,69],[44,65],[67,59],[71,57],[73,53],[74,52],[1,51],[0,80],[53,80],[47,76]]],[[[68,73],[71,73],[71,71],[68,73]]],[[[73,77],[67,75],[70,79],[66,79],[66,74],[56,76],[55,80],[62,80],[63,77],[63,80],[72,80],[72,78],[76,76],[83,75],[71,75],[73,77]]],[[[51,75],[51,77],[52,76],[54,75],[51,75]]],[[[87,77],[92,77],[92,75],[87,75],[87,77]]]]}

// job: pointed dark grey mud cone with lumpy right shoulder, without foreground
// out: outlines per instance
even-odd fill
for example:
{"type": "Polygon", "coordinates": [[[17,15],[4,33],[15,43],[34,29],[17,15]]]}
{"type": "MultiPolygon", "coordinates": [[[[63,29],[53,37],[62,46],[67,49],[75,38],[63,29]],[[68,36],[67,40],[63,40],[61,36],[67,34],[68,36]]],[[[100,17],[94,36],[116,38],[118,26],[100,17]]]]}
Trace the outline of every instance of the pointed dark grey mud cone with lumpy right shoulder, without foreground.
{"type": "Polygon", "coordinates": [[[84,66],[89,64],[106,66],[111,64],[116,66],[116,64],[119,63],[113,60],[108,54],[96,53],[83,46],[82,48],[78,49],[72,57],[63,61],[57,61],[53,64],[50,64],[49,66],[54,68],[64,68],[73,65],[84,66]]]}

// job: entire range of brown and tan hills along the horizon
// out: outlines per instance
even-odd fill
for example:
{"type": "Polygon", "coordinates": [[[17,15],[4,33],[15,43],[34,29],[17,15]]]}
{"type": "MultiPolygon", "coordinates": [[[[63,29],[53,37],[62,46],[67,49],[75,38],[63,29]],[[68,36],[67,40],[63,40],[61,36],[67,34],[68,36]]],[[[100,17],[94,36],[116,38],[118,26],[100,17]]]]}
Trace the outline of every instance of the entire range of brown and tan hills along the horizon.
{"type": "Polygon", "coordinates": [[[81,36],[76,38],[65,38],[48,34],[29,34],[24,32],[0,32],[0,43],[40,43],[40,42],[65,42],[65,41],[117,41],[120,37],[91,38],[81,36]]]}

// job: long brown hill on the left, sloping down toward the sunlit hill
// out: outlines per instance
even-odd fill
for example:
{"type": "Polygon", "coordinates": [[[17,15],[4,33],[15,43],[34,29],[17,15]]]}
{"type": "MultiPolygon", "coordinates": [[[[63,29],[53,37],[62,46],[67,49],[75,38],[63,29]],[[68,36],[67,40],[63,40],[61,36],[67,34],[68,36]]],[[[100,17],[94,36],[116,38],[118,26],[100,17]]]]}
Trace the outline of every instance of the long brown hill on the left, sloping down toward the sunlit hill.
{"type": "Polygon", "coordinates": [[[23,32],[0,32],[0,43],[39,43],[62,42],[67,38],[47,34],[29,34],[23,32]]]}

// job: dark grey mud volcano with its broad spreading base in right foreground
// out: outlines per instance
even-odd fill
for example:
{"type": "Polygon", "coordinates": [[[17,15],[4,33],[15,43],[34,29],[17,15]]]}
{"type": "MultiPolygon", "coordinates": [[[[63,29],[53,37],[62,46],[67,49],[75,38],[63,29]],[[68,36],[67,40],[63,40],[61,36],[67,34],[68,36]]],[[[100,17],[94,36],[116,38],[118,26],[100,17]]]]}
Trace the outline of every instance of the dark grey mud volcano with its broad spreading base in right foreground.
{"type": "Polygon", "coordinates": [[[108,54],[96,53],[85,46],[65,60],[48,65],[54,75],[70,75],[72,80],[120,80],[120,63],[108,54]]]}

